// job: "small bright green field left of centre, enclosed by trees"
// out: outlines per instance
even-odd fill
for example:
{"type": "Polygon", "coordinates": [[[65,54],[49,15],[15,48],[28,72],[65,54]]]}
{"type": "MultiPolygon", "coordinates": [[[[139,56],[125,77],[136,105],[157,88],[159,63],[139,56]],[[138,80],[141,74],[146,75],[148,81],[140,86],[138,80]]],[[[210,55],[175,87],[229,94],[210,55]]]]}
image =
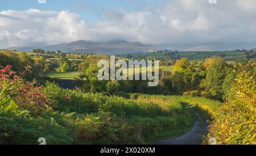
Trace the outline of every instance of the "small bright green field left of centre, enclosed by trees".
{"type": "Polygon", "coordinates": [[[57,78],[57,79],[75,79],[76,77],[79,77],[81,73],[76,72],[64,72],[64,73],[57,73],[55,71],[44,73],[43,76],[51,77],[51,78],[57,78]]]}

